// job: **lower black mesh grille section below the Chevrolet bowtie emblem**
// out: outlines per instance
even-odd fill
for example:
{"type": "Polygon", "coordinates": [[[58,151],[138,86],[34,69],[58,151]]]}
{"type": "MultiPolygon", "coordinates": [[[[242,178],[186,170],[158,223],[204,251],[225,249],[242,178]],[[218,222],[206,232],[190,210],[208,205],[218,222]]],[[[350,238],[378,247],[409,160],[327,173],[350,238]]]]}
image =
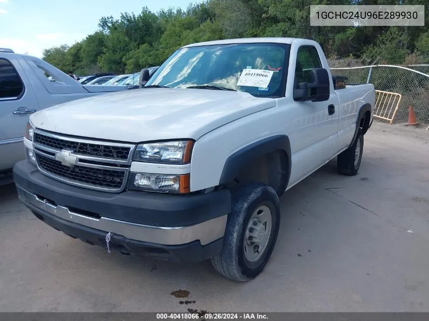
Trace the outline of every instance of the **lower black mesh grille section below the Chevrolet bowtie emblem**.
{"type": "Polygon", "coordinates": [[[61,162],[36,153],[37,161],[42,170],[60,179],[86,186],[119,190],[122,188],[125,171],[92,168],[74,165],[64,166],[61,162]]]}

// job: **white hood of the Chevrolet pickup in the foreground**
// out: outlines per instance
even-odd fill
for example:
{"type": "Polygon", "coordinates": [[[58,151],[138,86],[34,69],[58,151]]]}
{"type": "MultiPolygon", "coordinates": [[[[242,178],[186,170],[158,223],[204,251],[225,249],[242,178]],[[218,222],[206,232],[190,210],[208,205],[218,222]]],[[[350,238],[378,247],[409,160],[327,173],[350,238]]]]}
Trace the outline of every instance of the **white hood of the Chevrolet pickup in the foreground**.
{"type": "Polygon", "coordinates": [[[30,120],[40,129],[98,139],[198,139],[276,105],[276,99],[243,92],[147,88],[62,103],[32,114],[30,120]]]}

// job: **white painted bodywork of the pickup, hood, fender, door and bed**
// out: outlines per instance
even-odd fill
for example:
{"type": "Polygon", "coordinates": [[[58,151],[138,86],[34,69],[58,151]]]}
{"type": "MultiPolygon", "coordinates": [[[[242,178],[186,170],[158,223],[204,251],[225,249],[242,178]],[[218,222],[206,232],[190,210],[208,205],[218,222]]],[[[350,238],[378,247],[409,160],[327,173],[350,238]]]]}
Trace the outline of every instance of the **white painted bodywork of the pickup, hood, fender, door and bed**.
{"type": "MultiPolygon", "coordinates": [[[[291,52],[304,45],[314,46],[322,67],[332,77],[319,44],[304,39],[280,41],[290,43],[291,52]]],[[[261,138],[286,134],[290,138],[293,164],[290,188],[350,145],[360,106],[366,102],[374,106],[375,100],[374,86],[368,84],[341,90],[332,86],[328,101],[294,101],[291,97],[295,64],[296,55],[291,55],[283,98],[257,98],[245,92],[153,88],[68,102],[33,115],[31,121],[45,130],[97,139],[129,142],[195,139],[191,191],[216,186],[226,159],[237,150],[261,138]],[[328,104],[335,105],[332,116],[327,113],[328,104]],[[63,122],[64,119],[68,121],[63,122]],[[216,153],[211,152],[214,147],[216,153]]],[[[171,168],[171,174],[180,171],[177,165],[145,166],[152,166],[153,173],[158,173],[161,167],[171,168]]]]}

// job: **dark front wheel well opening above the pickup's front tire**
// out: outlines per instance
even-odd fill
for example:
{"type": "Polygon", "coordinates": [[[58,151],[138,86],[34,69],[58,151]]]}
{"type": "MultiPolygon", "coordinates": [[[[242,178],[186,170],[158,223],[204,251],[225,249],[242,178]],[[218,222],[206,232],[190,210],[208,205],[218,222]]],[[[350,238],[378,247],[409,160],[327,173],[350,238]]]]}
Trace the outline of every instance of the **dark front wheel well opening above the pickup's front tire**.
{"type": "Polygon", "coordinates": [[[281,196],[289,180],[289,161],[285,151],[277,150],[249,161],[227,184],[228,189],[235,189],[250,182],[260,182],[271,186],[281,196]]]}

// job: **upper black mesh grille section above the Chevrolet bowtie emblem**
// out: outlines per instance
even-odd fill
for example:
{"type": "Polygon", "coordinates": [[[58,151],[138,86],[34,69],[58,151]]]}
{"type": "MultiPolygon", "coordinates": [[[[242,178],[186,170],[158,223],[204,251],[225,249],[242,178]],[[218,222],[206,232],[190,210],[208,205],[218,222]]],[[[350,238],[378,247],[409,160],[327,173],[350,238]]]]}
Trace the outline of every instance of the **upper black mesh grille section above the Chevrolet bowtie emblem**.
{"type": "Polygon", "coordinates": [[[117,160],[127,160],[131,150],[129,147],[125,146],[91,144],[88,142],[60,139],[37,132],[34,133],[33,141],[36,144],[52,148],[57,151],[73,150],[73,153],[76,155],[102,157],[117,160]]]}

